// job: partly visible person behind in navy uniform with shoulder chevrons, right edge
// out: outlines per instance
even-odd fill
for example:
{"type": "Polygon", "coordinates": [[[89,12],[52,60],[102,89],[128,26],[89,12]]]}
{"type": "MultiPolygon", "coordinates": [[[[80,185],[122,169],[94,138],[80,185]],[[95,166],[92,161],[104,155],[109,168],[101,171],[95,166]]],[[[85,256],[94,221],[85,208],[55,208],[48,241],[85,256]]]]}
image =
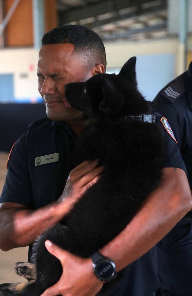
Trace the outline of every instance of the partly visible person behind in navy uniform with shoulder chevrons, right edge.
{"type": "MultiPolygon", "coordinates": [[[[192,62],[188,71],[168,83],[154,99],[167,118],[185,162],[192,190],[192,62]]],[[[192,295],[192,212],[157,244],[160,295],[192,295]]]]}

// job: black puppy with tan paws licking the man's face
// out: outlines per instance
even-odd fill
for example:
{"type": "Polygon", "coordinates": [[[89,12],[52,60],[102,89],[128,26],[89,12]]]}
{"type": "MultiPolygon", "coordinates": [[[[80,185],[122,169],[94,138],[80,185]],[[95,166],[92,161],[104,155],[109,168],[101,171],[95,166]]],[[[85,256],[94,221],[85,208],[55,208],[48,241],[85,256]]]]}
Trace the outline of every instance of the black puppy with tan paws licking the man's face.
{"type": "MultiPolygon", "coordinates": [[[[126,227],[159,183],[163,140],[155,123],[137,120],[137,115],[149,114],[150,110],[137,89],[135,64],[133,57],[118,75],[98,74],[86,82],[66,86],[69,103],[89,118],[77,139],[74,164],[99,159],[105,170],[63,223],[36,240],[33,264],[16,264],[17,273],[29,282],[2,284],[1,296],[43,293],[62,274],[59,260],[45,249],[46,239],[80,257],[90,257],[126,227]]],[[[121,273],[104,284],[100,295],[107,295],[120,278],[121,273]]]]}

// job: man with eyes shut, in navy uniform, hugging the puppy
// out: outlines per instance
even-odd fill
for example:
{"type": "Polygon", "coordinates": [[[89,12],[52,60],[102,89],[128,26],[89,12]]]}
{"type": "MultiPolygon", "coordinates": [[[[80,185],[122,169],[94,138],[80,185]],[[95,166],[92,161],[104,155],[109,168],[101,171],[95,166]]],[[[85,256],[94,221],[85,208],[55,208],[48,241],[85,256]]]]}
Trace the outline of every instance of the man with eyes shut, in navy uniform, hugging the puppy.
{"type": "MultiPolygon", "coordinates": [[[[10,156],[0,199],[2,250],[31,244],[44,229],[60,221],[102,173],[97,161],[84,162],[68,178],[71,146],[82,130],[84,114],[70,107],[64,86],[104,73],[105,66],[104,46],[93,31],[64,25],[44,35],[38,62],[38,90],[49,119],[33,123],[10,156]]],[[[170,134],[163,126],[162,129],[168,149],[160,185],[126,229],[100,250],[115,262],[117,271],[125,268],[124,280],[106,296],[153,295],[159,285],[155,250],[150,249],[192,206],[180,152],[170,134]]],[[[90,258],[78,258],[54,245],[47,244],[47,248],[61,260],[64,280],[61,277],[44,295],[92,296],[100,291],[104,281],[93,273],[90,258]]]]}

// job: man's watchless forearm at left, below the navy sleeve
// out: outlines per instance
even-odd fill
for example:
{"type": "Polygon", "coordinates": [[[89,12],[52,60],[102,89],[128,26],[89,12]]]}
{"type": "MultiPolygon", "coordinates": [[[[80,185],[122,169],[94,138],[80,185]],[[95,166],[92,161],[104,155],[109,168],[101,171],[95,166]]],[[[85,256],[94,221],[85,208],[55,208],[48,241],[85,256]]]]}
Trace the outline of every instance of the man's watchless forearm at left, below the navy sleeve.
{"type": "Polygon", "coordinates": [[[67,201],[63,205],[53,202],[38,210],[11,207],[12,203],[9,204],[9,208],[2,206],[0,209],[0,248],[3,251],[29,245],[69,210],[67,201]]]}

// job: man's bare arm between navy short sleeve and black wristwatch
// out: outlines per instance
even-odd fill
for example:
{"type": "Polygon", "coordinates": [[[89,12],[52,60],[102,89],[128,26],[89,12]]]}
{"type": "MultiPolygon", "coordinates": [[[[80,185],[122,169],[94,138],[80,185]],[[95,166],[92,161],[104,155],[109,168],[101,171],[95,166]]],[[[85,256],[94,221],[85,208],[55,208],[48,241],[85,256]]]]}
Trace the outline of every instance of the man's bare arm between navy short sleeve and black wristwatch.
{"type": "Polygon", "coordinates": [[[100,252],[114,260],[117,270],[132,263],[159,242],[192,206],[183,170],[164,168],[162,182],[150,194],[127,227],[100,252]]]}

